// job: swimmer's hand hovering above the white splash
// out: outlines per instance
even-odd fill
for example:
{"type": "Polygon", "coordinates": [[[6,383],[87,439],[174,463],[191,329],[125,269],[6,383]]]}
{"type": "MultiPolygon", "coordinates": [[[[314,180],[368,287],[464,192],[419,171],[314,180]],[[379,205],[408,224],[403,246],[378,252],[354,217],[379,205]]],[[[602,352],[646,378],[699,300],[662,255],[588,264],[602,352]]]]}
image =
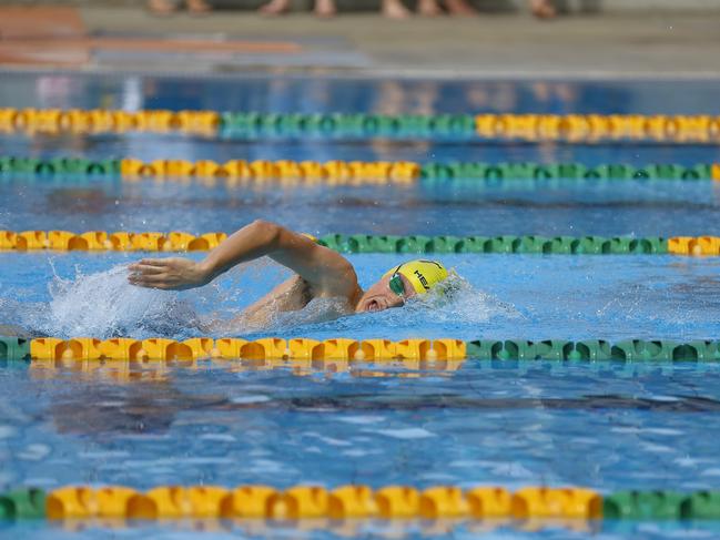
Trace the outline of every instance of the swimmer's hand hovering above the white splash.
{"type": "Polygon", "coordinates": [[[143,258],[128,266],[131,285],[166,291],[202,287],[211,281],[211,273],[202,263],[189,258],[143,258]]]}

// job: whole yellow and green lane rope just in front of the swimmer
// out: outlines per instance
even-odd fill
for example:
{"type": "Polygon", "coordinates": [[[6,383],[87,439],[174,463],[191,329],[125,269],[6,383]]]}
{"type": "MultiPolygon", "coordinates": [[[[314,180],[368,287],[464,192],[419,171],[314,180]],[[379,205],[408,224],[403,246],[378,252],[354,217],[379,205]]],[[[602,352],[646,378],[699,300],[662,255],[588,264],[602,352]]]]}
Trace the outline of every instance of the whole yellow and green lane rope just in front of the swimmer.
{"type": "MultiPolygon", "coordinates": [[[[720,340],[696,339],[388,339],[266,337],[255,340],[227,337],[195,337],[176,342],[166,338],[0,337],[0,359],[8,361],[54,360],[337,360],[337,361],[445,361],[483,360],[621,360],[621,361],[720,361],[720,340]]],[[[280,364],[278,364],[280,365],[280,364]]]]}

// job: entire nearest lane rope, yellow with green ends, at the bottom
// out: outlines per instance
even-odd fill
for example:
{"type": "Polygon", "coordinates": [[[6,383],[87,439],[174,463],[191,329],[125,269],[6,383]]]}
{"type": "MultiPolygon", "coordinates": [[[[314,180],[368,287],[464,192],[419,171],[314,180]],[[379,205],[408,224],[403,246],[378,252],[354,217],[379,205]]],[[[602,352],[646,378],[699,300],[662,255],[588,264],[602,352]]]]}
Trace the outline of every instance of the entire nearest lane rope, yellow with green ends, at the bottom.
{"type": "MultiPolygon", "coordinates": [[[[6,520],[717,520],[720,491],[618,491],[588,488],[498,486],[347,485],[334,489],[264,485],[158,486],[139,491],[121,486],[67,486],[44,491],[22,488],[0,493],[6,520]]],[[[331,523],[316,522],[324,528],[331,523]]]]}

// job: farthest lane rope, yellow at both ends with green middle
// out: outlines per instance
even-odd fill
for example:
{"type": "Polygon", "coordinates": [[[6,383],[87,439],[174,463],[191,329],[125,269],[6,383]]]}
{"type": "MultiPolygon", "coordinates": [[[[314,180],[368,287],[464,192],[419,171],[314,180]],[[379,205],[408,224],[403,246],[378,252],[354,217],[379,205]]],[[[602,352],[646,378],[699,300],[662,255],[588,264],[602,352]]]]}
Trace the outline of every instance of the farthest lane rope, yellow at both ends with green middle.
{"type": "Polygon", "coordinates": [[[0,109],[0,133],[184,133],[201,136],[463,137],[487,141],[717,143],[720,118],[641,114],[256,113],[0,109]]]}

